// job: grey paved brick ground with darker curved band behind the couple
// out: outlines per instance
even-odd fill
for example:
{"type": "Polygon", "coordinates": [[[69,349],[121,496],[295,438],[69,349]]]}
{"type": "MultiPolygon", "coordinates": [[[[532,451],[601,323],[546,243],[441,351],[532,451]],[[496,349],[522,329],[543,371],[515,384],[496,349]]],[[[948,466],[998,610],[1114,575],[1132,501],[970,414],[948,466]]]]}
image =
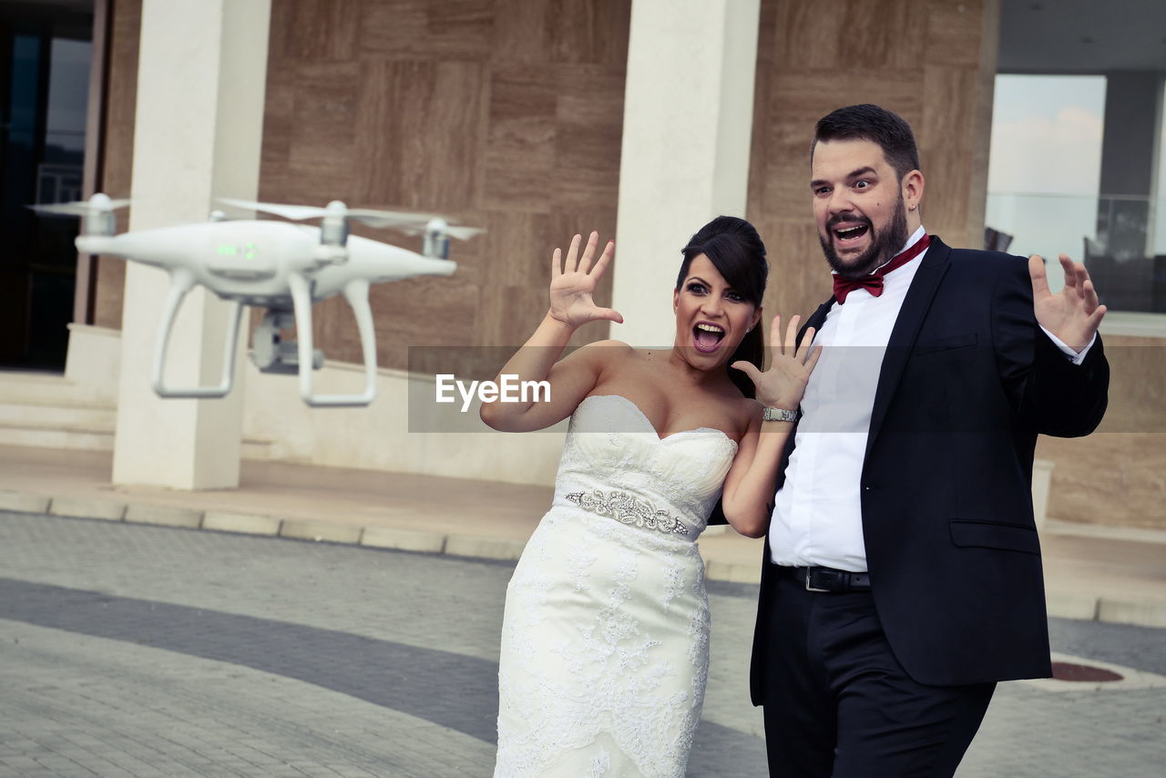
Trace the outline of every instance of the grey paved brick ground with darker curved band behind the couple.
{"type": "MultiPolygon", "coordinates": [[[[0,776],[489,776],[511,569],[0,513],[0,776]]],[[[756,587],[710,595],[689,775],[764,775],[756,587]]],[[[1160,630],[1052,628],[1059,651],[1166,671],[1160,630]]],[[[1004,685],[960,776],[1158,776],[1164,702],[1004,685]]]]}

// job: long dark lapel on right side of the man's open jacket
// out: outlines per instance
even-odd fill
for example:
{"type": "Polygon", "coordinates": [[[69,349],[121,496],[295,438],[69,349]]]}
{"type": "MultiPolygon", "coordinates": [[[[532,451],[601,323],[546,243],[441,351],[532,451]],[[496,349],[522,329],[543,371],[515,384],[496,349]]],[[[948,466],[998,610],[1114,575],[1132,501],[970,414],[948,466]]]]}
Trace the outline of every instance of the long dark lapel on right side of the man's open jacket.
{"type": "Polygon", "coordinates": [[[874,407],[871,409],[870,435],[866,437],[866,455],[870,456],[871,447],[878,437],[879,429],[886,418],[887,408],[891,407],[891,398],[899,386],[899,378],[902,377],[902,369],[907,364],[912,346],[919,337],[919,329],[922,327],[923,317],[932,306],[935,290],[939,289],[943,274],[947,273],[948,258],[951,248],[944,245],[939,238],[932,236],[932,245],[923,254],[922,265],[915,272],[915,278],[911,281],[907,296],[899,309],[899,317],[894,321],[891,330],[891,339],[887,343],[886,353],[883,357],[883,369],[879,371],[878,387],[874,390],[874,407]]]}

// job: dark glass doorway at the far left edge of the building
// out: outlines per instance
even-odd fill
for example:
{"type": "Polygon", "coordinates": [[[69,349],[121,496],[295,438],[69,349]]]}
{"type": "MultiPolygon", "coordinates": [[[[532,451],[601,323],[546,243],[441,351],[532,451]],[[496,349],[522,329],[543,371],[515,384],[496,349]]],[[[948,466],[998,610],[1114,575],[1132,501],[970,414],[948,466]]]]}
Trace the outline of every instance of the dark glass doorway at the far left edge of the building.
{"type": "Polygon", "coordinates": [[[0,367],[65,363],[78,224],[28,205],[83,194],[91,10],[0,1],[0,367]]]}

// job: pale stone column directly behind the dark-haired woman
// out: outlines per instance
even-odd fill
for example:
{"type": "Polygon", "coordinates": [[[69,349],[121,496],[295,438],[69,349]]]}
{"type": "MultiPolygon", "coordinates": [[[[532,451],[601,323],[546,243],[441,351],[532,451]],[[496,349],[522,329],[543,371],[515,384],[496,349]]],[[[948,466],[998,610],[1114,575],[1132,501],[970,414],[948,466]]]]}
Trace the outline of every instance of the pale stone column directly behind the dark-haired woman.
{"type": "Polygon", "coordinates": [[[745,216],[759,0],[634,0],[611,336],[670,346],[680,250],[705,222],[745,216]]]}

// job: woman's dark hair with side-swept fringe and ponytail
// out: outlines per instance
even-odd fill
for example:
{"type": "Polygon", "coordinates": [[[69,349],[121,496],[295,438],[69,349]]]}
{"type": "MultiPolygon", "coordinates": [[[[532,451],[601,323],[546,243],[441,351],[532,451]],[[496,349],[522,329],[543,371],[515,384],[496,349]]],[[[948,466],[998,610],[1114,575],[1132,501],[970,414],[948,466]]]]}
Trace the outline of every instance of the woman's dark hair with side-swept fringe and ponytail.
{"type": "MultiPolygon", "coordinates": [[[[680,275],[676,276],[676,289],[680,290],[688,278],[688,266],[693,259],[704,254],[717,268],[717,272],[737,290],[745,300],[754,307],[761,307],[761,296],[765,294],[765,281],[770,275],[770,264],[765,259],[765,244],[757,230],[745,219],[736,216],[718,216],[689,239],[684,246],[684,261],[680,265],[680,275]]],[[[737,350],[729,358],[729,364],[737,360],[751,362],[758,370],[764,370],[765,360],[765,337],[761,322],[745,334],[737,350]]],[[[729,369],[729,378],[736,384],[747,398],[756,394],[753,381],[749,376],[729,369]]]]}

